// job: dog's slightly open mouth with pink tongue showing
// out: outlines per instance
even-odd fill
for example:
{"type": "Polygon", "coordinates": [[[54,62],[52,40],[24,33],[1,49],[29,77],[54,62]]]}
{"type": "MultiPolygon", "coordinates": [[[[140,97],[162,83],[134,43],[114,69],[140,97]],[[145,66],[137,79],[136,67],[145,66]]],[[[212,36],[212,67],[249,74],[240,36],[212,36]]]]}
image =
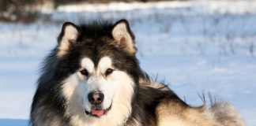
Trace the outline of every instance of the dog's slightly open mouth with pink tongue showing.
{"type": "Polygon", "coordinates": [[[85,113],[92,117],[102,117],[105,114],[107,114],[107,112],[111,109],[111,106],[109,106],[107,109],[103,109],[102,106],[95,105],[95,106],[92,106],[92,110],[90,112],[85,109],[85,113]]]}

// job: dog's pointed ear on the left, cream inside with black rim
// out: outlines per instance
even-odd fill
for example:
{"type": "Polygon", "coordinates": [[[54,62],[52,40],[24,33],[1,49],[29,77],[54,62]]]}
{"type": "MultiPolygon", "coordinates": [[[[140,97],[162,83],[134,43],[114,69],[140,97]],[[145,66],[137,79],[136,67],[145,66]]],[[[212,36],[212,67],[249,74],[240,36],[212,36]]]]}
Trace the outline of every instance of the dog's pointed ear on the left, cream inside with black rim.
{"type": "Polygon", "coordinates": [[[77,41],[79,32],[77,26],[71,22],[62,25],[62,32],[58,35],[58,56],[62,57],[66,54],[70,47],[77,41]]]}

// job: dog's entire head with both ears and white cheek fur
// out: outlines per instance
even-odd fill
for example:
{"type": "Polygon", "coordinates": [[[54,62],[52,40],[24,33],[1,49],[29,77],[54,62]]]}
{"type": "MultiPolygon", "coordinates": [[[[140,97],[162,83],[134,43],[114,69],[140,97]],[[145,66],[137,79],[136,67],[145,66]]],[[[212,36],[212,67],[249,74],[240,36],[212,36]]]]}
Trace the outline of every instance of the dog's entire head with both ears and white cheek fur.
{"type": "Polygon", "coordinates": [[[134,35],[116,24],[63,24],[57,56],[67,113],[88,120],[128,116],[137,82],[134,35]],[[120,114],[120,115],[119,115],[120,114]]]}

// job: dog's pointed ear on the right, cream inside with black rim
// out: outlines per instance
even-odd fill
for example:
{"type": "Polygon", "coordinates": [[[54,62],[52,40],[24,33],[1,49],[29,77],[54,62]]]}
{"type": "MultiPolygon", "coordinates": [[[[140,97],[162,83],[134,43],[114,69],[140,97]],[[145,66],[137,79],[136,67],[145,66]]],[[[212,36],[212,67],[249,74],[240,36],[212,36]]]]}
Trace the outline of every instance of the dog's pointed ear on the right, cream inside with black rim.
{"type": "Polygon", "coordinates": [[[136,54],[134,46],[134,34],[130,31],[130,26],[127,20],[119,20],[114,24],[112,35],[115,42],[129,54],[136,54]]]}

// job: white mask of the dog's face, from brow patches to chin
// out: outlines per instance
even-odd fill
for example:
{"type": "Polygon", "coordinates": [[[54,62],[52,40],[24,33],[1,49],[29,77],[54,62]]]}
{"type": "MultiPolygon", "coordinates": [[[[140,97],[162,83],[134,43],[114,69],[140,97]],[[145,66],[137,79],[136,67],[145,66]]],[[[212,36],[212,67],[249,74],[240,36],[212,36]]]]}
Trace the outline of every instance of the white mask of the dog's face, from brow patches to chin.
{"type": "Polygon", "coordinates": [[[130,81],[129,76],[119,71],[110,57],[101,57],[98,64],[91,58],[81,60],[81,69],[77,71],[78,92],[81,95],[85,113],[93,117],[102,117],[111,109],[116,88],[122,81],[130,81]]]}

